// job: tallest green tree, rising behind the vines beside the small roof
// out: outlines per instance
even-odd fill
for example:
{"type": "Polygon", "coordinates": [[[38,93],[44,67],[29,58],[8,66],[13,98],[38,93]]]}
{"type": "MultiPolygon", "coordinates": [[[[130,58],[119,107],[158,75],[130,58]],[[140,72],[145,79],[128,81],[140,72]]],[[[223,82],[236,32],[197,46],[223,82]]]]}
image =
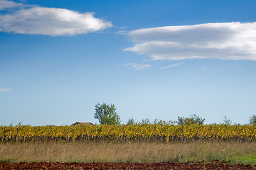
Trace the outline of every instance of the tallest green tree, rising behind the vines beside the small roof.
{"type": "Polygon", "coordinates": [[[95,105],[95,119],[98,119],[100,124],[119,125],[121,123],[119,115],[115,111],[117,108],[114,104],[107,105],[97,103],[95,105]]]}

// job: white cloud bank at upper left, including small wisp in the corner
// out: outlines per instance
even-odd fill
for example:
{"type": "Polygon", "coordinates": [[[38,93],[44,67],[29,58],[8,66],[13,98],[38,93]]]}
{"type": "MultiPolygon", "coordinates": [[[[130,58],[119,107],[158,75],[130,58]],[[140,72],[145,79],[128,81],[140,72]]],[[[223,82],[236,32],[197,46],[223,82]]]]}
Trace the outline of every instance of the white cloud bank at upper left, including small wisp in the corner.
{"type": "MultiPolygon", "coordinates": [[[[4,1],[0,4],[0,10],[11,7],[18,7],[18,4],[13,1],[4,1]]],[[[65,8],[32,6],[0,15],[0,31],[6,33],[77,35],[110,27],[110,21],[95,18],[94,13],[79,13],[65,8]]]]}

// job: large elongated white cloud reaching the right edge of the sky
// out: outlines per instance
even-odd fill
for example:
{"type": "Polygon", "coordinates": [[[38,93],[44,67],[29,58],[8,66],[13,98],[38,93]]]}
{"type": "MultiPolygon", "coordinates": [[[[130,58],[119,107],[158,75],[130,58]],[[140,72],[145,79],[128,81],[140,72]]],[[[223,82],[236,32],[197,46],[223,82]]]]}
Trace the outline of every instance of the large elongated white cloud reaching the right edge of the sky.
{"type": "Polygon", "coordinates": [[[128,36],[135,45],[124,51],[146,54],[152,60],[256,60],[256,22],[145,28],[128,36]]]}

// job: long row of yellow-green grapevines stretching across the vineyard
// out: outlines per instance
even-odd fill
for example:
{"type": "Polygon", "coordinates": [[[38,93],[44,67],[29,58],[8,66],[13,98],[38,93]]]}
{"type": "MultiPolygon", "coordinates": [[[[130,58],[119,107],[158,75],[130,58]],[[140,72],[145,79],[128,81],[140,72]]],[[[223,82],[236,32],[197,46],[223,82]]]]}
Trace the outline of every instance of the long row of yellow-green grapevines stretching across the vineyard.
{"type": "Polygon", "coordinates": [[[18,141],[255,141],[256,125],[65,125],[1,126],[1,142],[18,141]]]}

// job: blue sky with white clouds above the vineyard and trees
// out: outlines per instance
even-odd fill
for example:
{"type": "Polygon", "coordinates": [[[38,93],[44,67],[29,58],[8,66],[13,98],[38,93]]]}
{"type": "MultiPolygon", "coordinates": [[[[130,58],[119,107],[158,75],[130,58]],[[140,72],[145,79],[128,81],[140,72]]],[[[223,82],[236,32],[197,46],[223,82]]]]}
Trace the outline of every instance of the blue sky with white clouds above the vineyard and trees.
{"type": "Polygon", "coordinates": [[[0,125],[256,114],[256,1],[0,0],[0,125]]]}

